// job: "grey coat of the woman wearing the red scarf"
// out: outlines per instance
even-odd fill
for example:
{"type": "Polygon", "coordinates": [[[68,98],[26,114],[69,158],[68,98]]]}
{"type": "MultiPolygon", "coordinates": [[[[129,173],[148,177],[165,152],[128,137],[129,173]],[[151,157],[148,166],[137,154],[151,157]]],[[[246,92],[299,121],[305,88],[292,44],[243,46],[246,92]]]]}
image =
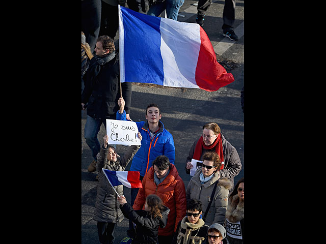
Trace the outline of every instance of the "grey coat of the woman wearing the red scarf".
{"type": "MultiPolygon", "coordinates": [[[[222,138],[222,148],[223,148],[223,156],[224,156],[224,169],[220,170],[220,175],[221,175],[221,178],[228,177],[229,179],[232,180],[232,184],[234,184],[233,178],[236,175],[238,175],[239,172],[241,171],[242,164],[241,164],[238,152],[235,149],[235,147],[232,146],[231,143],[225,139],[225,137],[222,135],[222,133],[221,133],[221,138],[222,138]]],[[[196,140],[193,143],[192,147],[190,148],[189,155],[186,159],[185,165],[187,165],[187,162],[192,161],[198,140],[196,140]]],[[[215,149],[213,148],[212,150],[215,150],[215,149]]],[[[202,155],[200,156],[201,161],[203,160],[202,156],[204,155],[204,153],[206,151],[207,151],[206,149],[204,149],[204,148],[202,149],[202,155]]],[[[187,174],[190,173],[189,169],[185,169],[185,170],[186,170],[187,174]]]]}

